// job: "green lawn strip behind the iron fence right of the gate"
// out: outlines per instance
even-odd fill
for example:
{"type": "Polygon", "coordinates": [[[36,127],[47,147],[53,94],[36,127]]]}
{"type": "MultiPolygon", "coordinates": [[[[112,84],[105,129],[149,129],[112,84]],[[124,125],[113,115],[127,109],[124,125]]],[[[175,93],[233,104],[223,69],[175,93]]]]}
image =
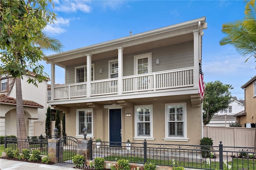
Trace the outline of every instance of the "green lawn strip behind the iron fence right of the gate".
{"type": "MultiPolygon", "coordinates": [[[[129,162],[138,162],[141,164],[144,164],[144,158],[138,158],[138,157],[128,157],[128,156],[108,156],[105,158],[105,160],[114,160],[117,161],[119,159],[126,159],[129,160],[129,162]]],[[[254,160],[255,161],[255,160],[254,160]]],[[[158,165],[168,165],[172,166],[172,160],[154,160],[154,159],[147,159],[147,162],[151,162],[158,165]]],[[[176,162],[176,161],[175,161],[176,162]]],[[[233,161],[228,162],[228,167],[225,163],[223,163],[223,170],[232,170],[232,169],[247,169],[247,170],[254,170],[256,168],[256,165],[254,164],[252,159],[240,159],[240,158],[234,158],[233,161]]],[[[219,169],[220,162],[211,162],[210,165],[206,162],[182,162],[178,161],[176,162],[176,166],[183,166],[183,167],[189,167],[189,168],[202,168],[202,169],[219,169]]]]}

